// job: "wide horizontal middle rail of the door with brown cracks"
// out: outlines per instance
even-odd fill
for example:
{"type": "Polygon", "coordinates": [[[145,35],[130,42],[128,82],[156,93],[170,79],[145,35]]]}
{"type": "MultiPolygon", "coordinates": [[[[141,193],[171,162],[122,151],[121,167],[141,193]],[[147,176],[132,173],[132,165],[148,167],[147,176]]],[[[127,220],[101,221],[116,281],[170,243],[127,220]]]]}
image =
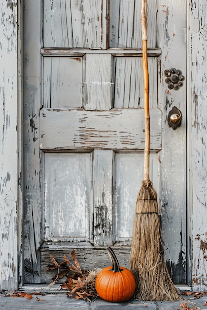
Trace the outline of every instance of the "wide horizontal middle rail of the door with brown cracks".
{"type": "MultiPolygon", "coordinates": [[[[151,109],[151,149],[161,148],[161,111],[151,109]]],[[[143,109],[40,111],[41,149],[144,149],[143,109]]]]}

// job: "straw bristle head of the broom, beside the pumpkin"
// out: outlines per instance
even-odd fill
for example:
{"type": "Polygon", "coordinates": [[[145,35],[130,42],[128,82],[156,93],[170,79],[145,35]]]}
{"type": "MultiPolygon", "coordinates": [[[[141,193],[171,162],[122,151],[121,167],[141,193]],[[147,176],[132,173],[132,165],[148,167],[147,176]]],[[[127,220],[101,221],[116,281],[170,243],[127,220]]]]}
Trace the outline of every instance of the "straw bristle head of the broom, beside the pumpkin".
{"type": "Polygon", "coordinates": [[[151,181],[143,181],[138,193],[130,269],[140,300],[180,300],[164,261],[157,194],[151,181]]]}

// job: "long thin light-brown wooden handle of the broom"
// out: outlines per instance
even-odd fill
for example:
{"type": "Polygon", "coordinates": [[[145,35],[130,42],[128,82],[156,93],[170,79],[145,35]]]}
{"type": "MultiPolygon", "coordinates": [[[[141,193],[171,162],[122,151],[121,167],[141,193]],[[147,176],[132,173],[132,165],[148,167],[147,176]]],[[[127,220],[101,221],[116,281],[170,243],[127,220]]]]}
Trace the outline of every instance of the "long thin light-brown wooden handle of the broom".
{"type": "Polygon", "coordinates": [[[149,71],[147,60],[147,0],[142,0],[141,30],[143,51],[143,76],[144,76],[144,120],[145,120],[145,148],[144,148],[144,180],[149,181],[149,155],[150,155],[150,116],[149,116],[149,71]]]}

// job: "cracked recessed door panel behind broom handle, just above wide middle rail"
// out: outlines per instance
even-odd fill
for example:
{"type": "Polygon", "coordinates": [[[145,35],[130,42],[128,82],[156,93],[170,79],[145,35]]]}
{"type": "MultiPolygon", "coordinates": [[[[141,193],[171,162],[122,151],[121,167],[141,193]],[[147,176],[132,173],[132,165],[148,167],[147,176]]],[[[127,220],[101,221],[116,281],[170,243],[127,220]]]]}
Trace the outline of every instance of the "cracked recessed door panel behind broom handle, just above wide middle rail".
{"type": "MultiPolygon", "coordinates": [[[[149,105],[157,107],[157,59],[148,59],[149,105]]],[[[143,108],[143,66],[142,58],[115,58],[114,107],[143,108]]]]}

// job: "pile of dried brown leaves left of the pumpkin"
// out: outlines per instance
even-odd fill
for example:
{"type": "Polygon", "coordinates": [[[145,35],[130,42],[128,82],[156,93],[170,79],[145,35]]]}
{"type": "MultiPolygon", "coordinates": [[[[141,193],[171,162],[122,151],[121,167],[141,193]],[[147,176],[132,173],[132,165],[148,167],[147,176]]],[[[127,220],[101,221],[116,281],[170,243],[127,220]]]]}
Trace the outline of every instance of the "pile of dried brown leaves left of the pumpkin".
{"type": "Polygon", "coordinates": [[[48,286],[54,285],[58,279],[66,276],[66,281],[61,285],[61,289],[66,289],[68,296],[73,295],[76,299],[91,301],[92,298],[98,296],[95,289],[95,280],[101,269],[97,268],[94,271],[82,270],[75,256],[75,250],[72,250],[71,258],[74,264],[65,255],[64,261],[59,264],[55,256],[53,254],[50,255],[52,265],[49,265],[46,270],[57,269],[57,273],[48,286]]]}

